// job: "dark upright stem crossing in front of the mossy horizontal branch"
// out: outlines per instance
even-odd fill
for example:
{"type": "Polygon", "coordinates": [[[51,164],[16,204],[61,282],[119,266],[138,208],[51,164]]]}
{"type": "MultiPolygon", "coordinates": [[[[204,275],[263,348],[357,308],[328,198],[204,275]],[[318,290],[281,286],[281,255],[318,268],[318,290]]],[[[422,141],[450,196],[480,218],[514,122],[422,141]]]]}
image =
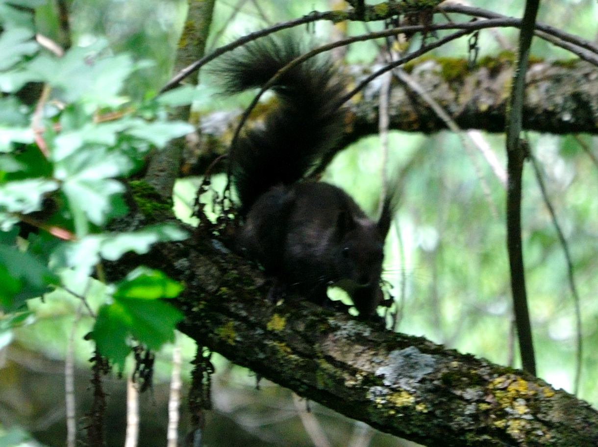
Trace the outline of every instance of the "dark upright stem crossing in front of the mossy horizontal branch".
{"type": "Polygon", "coordinates": [[[521,178],[526,154],[520,140],[520,133],[523,122],[525,75],[538,6],[539,0],[526,1],[507,118],[507,249],[511,269],[513,310],[517,323],[521,363],[523,369],[533,375],[536,375],[536,359],[533,352],[532,325],[527,309],[525,268],[521,249],[521,178]]]}

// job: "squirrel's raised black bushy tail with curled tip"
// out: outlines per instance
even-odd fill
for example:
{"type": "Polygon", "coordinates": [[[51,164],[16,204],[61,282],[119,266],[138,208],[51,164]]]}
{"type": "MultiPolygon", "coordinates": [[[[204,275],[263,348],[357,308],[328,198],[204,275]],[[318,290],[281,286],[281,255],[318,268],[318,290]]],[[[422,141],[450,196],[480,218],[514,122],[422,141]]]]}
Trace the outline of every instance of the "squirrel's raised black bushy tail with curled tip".
{"type": "MultiPolygon", "coordinates": [[[[292,33],[267,36],[221,58],[215,71],[227,93],[262,87],[303,54],[292,33]]],[[[272,186],[290,185],[338,143],[343,113],[336,109],[344,87],[330,62],[313,57],[282,76],[272,90],[279,105],[263,125],[243,131],[231,148],[231,173],[246,213],[272,186]]]]}

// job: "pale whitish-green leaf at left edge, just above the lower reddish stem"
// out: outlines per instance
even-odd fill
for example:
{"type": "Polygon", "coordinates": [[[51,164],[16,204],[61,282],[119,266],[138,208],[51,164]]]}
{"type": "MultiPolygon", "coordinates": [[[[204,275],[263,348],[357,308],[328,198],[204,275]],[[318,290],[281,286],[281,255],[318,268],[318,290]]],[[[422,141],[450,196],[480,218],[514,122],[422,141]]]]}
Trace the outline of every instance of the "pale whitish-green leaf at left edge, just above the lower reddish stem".
{"type": "Polygon", "coordinates": [[[0,185],[0,212],[31,213],[41,210],[44,194],[58,189],[58,183],[48,179],[16,180],[0,185]]]}

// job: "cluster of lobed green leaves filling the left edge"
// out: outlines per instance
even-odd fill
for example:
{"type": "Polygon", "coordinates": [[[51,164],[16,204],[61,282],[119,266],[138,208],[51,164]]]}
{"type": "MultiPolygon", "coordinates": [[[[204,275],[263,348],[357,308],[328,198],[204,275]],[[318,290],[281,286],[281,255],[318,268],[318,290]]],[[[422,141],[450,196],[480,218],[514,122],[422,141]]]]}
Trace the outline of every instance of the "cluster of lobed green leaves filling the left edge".
{"type": "MultiPolygon", "coordinates": [[[[129,232],[107,226],[127,212],[123,179],[150,149],[192,130],[167,120],[167,107],[193,94],[131,99],[127,84],[152,64],[114,54],[102,39],[62,57],[40,47],[31,14],[19,6],[44,3],[0,1],[0,347],[31,320],[28,299],[62,287],[87,299],[103,260],[187,237],[171,224],[129,232]],[[23,91],[33,92],[35,105],[22,102],[23,91]]],[[[182,316],[161,298],[181,290],[142,268],[108,284],[92,335],[100,353],[123,368],[133,338],[152,349],[171,341],[182,316]]]]}

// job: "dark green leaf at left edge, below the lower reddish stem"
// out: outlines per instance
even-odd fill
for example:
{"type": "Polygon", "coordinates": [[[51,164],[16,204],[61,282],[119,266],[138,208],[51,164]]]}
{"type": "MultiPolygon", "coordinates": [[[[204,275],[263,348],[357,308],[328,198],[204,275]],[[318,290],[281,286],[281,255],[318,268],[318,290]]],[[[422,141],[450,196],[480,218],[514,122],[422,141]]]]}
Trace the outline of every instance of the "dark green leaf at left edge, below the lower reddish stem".
{"type": "Polygon", "coordinates": [[[59,278],[30,253],[0,245],[0,307],[11,311],[47,292],[59,278]]]}

